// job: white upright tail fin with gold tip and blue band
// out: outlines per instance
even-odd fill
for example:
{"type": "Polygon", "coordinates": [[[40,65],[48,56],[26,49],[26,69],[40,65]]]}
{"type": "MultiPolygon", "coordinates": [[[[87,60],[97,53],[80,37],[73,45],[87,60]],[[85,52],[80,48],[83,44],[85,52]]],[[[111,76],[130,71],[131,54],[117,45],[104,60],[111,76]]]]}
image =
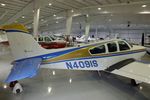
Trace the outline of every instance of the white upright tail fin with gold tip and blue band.
{"type": "Polygon", "coordinates": [[[20,24],[6,25],[6,31],[11,52],[15,60],[37,56],[45,49],[34,40],[28,30],[20,24]]]}

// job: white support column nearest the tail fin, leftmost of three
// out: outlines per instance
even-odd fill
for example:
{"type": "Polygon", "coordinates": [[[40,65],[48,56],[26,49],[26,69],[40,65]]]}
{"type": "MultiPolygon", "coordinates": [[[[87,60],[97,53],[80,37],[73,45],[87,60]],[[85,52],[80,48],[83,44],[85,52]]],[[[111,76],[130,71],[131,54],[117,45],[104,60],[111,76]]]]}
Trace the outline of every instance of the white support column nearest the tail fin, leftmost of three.
{"type": "Polygon", "coordinates": [[[33,19],[33,36],[38,37],[39,31],[39,17],[40,17],[40,6],[39,1],[34,1],[34,19],[33,19]]]}

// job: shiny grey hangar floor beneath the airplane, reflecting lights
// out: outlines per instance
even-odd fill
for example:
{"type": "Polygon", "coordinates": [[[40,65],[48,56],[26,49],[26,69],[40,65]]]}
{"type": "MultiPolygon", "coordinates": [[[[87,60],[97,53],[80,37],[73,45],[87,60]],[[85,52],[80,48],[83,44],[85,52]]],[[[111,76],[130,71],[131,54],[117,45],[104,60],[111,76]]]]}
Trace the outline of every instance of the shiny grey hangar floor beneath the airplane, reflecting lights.
{"type": "MultiPolygon", "coordinates": [[[[143,60],[150,61],[146,55],[143,60]]],[[[0,100],[150,100],[150,85],[130,85],[130,79],[96,71],[41,69],[20,81],[24,91],[12,94],[0,85],[0,100]]]]}

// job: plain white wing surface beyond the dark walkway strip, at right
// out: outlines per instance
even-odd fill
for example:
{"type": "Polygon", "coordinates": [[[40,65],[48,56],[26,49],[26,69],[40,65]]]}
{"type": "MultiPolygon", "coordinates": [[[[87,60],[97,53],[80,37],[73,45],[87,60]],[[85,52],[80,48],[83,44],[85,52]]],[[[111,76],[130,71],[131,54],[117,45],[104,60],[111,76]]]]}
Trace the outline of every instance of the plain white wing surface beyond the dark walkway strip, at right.
{"type": "Polygon", "coordinates": [[[150,84],[150,64],[132,62],[120,69],[113,70],[111,73],[150,84]]]}

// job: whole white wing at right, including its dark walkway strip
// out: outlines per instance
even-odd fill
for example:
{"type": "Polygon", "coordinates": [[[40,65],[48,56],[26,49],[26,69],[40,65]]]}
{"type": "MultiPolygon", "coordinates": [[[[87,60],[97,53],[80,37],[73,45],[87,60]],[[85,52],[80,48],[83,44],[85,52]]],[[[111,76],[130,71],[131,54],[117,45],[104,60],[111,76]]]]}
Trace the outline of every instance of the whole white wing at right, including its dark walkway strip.
{"type": "Polygon", "coordinates": [[[150,84],[150,64],[128,59],[110,66],[106,71],[150,84]]]}

